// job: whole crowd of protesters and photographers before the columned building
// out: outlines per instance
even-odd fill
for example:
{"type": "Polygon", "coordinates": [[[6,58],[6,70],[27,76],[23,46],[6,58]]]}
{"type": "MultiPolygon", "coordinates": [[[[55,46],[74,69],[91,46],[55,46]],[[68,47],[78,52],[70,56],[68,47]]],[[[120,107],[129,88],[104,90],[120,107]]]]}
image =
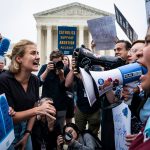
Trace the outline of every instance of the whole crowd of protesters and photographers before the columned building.
{"type": "MultiPolygon", "coordinates": [[[[1,36],[0,42],[2,39],[1,36]]],[[[93,45],[91,47],[93,49],[93,45]]],[[[114,57],[121,57],[126,64],[138,62],[148,73],[141,76],[132,92],[127,85],[118,86],[90,106],[76,58],[70,60],[59,50],[53,50],[49,62],[38,70],[40,56],[36,44],[19,41],[11,54],[7,54],[11,60],[7,70],[4,70],[5,56],[0,56],[0,94],[4,93],[7,98],[15,133],[8,149],[62,150],[65,144],[68,150],[115,150],[112,107],[108,106],[120,100],[128,104],[132,114],[131,134],[126,135],[126,145],[131,150],[136,149],[141,134],[143,141],[139,144],[150,143],[149,56],[150,35],[133,43],[118,40],[114,57]],[[37,76],[34,71],[38,71],[37,76]],[[101,141],[97,139],[99,133],[101,141]]]]}

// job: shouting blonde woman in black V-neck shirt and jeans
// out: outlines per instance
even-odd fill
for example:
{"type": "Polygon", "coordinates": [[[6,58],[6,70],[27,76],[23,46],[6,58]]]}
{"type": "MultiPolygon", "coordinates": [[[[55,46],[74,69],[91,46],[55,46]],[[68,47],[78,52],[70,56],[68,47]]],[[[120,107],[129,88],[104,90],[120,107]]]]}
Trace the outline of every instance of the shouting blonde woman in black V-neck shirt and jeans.
{"type": "Polygon", "coordinates": [[[0,75],[0,94],[5,93],[14,113],[15,140],[9,149],[32,150],[30,134],[36,115],[47,115],[55,119],[56,110],[52,102],[46,101],[34,107],[39,100],[39,81],[32,71],[38,71],[39,53],[36,44],[21,40],[9,55],[9,70],[0,75]]]}

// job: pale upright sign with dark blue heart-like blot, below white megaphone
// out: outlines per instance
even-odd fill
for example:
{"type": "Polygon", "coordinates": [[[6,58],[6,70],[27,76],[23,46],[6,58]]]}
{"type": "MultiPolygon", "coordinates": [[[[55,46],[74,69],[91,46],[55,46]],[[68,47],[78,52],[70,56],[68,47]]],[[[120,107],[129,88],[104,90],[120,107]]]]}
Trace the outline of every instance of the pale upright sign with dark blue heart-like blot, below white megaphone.
{"type": "Polygon", "coordinates": [[[115,150],[128,150],[126,135],[131,132],[131,111],[127,104],[122,102],[112,109],[115,131],[115,150]]]}

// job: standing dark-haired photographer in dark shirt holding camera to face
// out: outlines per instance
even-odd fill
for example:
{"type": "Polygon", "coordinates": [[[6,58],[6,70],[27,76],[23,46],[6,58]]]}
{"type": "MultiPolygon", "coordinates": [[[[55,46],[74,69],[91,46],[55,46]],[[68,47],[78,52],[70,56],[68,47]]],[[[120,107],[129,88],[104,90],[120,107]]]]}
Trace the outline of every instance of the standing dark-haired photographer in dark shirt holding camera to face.
{"type": "Polygon", "coordinates": [[[63,67],[63,54],[60,51],[52,51],[50,54],[50,62],[41,67],[38,78],[42,85],[42,98],[52,98],[54,107],[57,110],[56,124],[59,124],[61,130],[64,126],[66,117],[66,89],[65,75],[63,67]]]}

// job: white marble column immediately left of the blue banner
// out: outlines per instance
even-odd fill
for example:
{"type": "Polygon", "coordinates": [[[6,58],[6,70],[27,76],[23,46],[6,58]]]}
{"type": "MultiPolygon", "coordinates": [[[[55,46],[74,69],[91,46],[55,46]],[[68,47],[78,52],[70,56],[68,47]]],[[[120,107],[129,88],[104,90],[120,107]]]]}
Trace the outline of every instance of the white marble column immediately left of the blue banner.
{"type": "Polygon", "coordinates": [[[49,55],[52,52],[52,26],[47,26],[47,45],[46,45],[46,58],[49,61],[49,55]]]}

